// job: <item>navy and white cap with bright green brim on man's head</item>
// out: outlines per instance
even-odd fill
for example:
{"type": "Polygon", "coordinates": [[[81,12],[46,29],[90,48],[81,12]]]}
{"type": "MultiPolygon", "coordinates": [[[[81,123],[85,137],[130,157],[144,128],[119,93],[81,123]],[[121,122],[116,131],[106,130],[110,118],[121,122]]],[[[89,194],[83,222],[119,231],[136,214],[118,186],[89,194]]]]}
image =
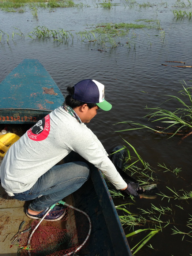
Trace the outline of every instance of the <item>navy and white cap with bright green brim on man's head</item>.
{"type": "Polygon", "coordinates": [[[95,103],[105,111],[112,108],[112,105],[105,100],[104,85],[93,79],[85,79],[76,83],[72,98],[86,103],[95,103]]]}

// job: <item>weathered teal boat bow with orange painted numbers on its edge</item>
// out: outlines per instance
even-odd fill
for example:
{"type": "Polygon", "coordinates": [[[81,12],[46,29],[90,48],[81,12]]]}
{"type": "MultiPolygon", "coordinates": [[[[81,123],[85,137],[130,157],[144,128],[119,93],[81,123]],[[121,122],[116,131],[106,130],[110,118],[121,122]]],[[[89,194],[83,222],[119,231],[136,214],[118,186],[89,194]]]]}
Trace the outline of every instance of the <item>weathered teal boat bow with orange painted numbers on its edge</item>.
{"type": "Polygon", "coordinates": [[[37,59],[23,60],[0,83],[0,123],[36,123],[64,101],[37,59]]]}

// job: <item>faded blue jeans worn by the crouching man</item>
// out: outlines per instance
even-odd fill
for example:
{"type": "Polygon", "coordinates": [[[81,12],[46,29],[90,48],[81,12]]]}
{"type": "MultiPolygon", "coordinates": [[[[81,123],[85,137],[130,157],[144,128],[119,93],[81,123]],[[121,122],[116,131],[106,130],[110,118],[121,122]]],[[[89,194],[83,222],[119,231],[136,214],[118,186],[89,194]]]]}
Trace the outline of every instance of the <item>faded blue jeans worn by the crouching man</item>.
{"type": "Polygon", "coordinates": [[[90,169],[85,162],[55,165],[39,177],[32,188],[22,193],[14,193],[13,198],[20,201],[33,200],[29,209],[42,211],[79,189],[89,175],[90,169]]]}

